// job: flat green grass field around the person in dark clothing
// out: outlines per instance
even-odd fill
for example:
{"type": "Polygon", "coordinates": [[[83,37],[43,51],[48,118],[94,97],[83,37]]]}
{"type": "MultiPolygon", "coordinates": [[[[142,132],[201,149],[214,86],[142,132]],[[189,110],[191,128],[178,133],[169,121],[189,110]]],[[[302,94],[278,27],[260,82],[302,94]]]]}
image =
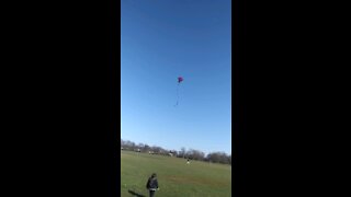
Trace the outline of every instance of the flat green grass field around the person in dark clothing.
{"type": "Polygon", "coordinates": [[[156,197],[229,197],[231,166],[132,151],[121,151],[121,196],[147,196],[147,178],[156,173],[156,197]]]}

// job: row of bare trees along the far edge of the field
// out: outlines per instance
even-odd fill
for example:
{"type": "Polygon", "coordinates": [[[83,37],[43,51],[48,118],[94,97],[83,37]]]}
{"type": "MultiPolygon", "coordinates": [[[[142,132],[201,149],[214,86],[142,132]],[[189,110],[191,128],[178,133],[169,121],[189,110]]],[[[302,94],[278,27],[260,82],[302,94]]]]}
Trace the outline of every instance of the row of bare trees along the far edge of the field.
{"type": "Polygon", "coordinates": [[[168,157],[177,157],[177,158],[184,158],[190,160],[197,160],[204,162],[212,162],[212,163],[223,163],[231,165],[231,154],[228,155],[225,152],[211,152],[205,154],[204,152],[195,149],[185,149],[181,148],[181,150],[167,150],[161,147],[157,146],[148,146],[146,143],[135,143],[129,140],[121,139],[121,149],[127,151],[137,151],[137,152],[145,152],[149,154],[161,154],[168,157]]]}

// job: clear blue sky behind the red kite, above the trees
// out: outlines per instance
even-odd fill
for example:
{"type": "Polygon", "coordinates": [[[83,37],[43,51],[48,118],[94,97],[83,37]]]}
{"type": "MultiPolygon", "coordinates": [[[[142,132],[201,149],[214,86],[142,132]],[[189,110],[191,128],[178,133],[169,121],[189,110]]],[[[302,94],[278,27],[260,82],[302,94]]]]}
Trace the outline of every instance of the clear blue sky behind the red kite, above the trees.
{"type": "Polygon", "coordinates": [[[230,0],[122,0],[121,12],[121,138],[231,154],[230,0]]]}

